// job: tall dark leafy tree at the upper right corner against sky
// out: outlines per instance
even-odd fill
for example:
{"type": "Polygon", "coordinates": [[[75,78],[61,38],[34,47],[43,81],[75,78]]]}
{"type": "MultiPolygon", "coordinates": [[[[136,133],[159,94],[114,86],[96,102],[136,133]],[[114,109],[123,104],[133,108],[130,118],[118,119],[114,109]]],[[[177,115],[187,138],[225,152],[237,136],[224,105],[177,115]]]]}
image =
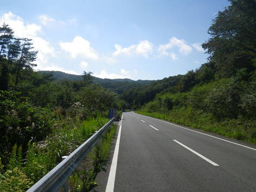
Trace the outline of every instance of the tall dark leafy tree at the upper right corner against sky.
{"type": "Polygon", "coordinates": [[[256,1],[229,2],[231,5],[217,14],[208,29],[210,39],[202,44],[221,78],[235,75],[242,68],[247,73],[255,70],[256,1]]]}

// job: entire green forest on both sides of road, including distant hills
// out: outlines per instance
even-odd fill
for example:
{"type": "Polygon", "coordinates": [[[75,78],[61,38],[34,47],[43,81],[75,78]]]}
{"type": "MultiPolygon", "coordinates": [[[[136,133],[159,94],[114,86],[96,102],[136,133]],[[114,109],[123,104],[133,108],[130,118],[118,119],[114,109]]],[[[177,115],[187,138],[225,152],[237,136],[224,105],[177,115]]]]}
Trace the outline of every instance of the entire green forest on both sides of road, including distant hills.
{"type": "Polygon", "coordinates": [[[256,1],[229,1],[231,5],[212,20],[210,38],[202,44],[208,62],[185,75],[156,81],[99,79],[91,72],[35,72],[32,40],[17,39],[4,23],[0,174],[8,179],[25,175],[22,185],[28,188],[40,179],[31,170],[46,174],[62,155],[104,125],[110,107],[256,144],[256,1]],[[93,120],[96,125],[90,126],[93,120]],[[48,154],[47,165],[40,160],[42,154],[48,154]]]}

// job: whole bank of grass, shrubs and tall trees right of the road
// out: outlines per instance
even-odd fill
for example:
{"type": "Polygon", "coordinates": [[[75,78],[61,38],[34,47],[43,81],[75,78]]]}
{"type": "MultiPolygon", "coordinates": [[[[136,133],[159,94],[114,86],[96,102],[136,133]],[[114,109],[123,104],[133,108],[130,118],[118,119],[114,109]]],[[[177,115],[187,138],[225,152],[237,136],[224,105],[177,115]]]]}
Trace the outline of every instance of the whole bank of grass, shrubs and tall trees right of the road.
{"type": "Polygon", "coordinates": [[[209,62],[138,113],[256,144],[256,1],[229,1],[202,44],[209,62]]]}

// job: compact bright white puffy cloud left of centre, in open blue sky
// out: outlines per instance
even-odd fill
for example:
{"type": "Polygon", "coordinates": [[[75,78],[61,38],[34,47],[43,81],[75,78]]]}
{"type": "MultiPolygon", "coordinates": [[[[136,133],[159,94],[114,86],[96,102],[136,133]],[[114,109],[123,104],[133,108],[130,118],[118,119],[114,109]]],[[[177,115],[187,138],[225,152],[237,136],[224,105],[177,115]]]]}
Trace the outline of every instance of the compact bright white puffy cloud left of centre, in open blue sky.
{"type": "Polygon", "coordinates": [[[73,41],[59,43],[63,51],[69,52],[72,58],[84,57],[87,59],[98,59],[97,52],[90,47],[90,42],[81,36],[74,37],[73,41]]]}

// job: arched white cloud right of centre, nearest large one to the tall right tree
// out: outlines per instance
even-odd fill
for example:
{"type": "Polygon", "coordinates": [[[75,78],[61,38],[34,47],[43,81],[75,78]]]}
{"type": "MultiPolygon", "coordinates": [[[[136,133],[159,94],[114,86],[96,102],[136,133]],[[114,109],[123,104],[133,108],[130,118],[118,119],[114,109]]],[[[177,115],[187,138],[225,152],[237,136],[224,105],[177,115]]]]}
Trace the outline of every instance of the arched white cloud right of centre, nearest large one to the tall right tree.
{"type": "Polygon", "coordinates": [[[174,47],[178,47],[179,53],[182,55],[189,55],[189,53],[191,53],[192,51],[192,48],[190,47],[190,45],[187,45],[186,41],[178,40],[176,37],[172,37],[169,40],[169,43],[159,45],[157,51],[159,51],[160,55],[158,57],[171,56],[172,59],[177,59],[174,53],[167,52],[168,49],[172,49],[174,47]]]}

